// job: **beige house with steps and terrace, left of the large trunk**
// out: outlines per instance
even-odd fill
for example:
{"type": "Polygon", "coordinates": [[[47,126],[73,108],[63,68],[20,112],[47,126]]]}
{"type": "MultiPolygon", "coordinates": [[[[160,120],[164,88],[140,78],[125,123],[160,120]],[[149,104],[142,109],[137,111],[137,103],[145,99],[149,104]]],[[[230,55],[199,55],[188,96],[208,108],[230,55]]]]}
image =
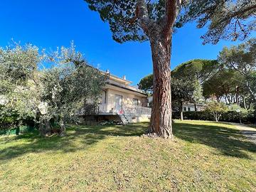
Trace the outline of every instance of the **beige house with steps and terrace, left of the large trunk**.
{"type": "Polygon", "coordinates": [[[124,124],[142,122],[150,119],[151,108],[148,106],[147,94],[130,85],[125,76],[119,78],[107,72],[107,84],[102,90],[102,97],[96,114],[86,115],[85,120],[122,120],[124,124]]]}

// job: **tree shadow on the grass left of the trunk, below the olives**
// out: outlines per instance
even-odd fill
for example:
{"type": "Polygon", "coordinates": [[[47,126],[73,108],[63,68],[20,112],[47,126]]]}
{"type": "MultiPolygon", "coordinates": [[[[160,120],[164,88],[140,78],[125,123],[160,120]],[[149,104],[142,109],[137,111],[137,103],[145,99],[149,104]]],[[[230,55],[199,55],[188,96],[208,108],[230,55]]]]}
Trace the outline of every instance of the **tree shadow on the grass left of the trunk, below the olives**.
{"type": "Polygon", "coordinates": [[[42,152],[68,153],[88,149],[106,137],[139,136],[146,131],[147,123],[126,126],[70,126],[65,137],[40,137],[38,132],[0,139],[0,160],[13,159],[23,154],[42,152]],[[74,142],[75,141],[75,142],[74,142]],[[6,145],[6,147],[4,146],[6,145]],[[4,147],[2,147],[4,146],[4,147]]]}

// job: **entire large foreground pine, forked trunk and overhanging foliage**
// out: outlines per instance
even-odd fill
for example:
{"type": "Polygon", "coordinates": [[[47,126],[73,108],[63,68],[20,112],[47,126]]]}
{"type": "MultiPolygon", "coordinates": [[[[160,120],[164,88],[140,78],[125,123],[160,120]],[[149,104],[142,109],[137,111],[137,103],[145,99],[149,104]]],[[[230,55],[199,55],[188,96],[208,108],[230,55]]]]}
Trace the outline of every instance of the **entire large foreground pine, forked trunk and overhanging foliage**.
{"type": "MultiPolygon", "coordinates": [[[[223,0],[85,0],[90,9],[98,11],[103,21],[110,23],[113,38],[119,43],[125,41],[150,41],[153,60],[154,92],[151,123],[148,133],[159,137],[172,138],[171,127],[171,39],[174,26],[182,26],[191,20],[197,20],[198,27],[210,22],[209,31],[216,37],[216,43],[225,33],[225,29],[232,26],[233,17],[246,19],[254,14],[255,2],[250,6],[245,1],[223,0]],[[240,6],[243,3],[246,6],[240,6]],[[227,9],[230,4],[237,5],[238,11],[227,9]],[[184,9],[186,7],[186,9],[184,9]],[[229,16],[228,16],[229,15],[229,16]],[[222,28],[215,25],[217,18],[225,18],[222,28]],[[228,18],[226,18],[228,17],[228,18]],[[177,20],[178,18],[178,20],[177,20]],[[178,21],[176,23],[176,20],[178,21]]],[[[249,31],[248,28],[247,31],[249,31]]],[[[236,33],[235,33],[236,34],[236,33]]],[[[206,36],[206,39],[208,36],[206,36]]],[[[211,38],[213,39],[213,38],[211,38]]],[[[210,40],[211,40],[210,39],[210,40]]],[[[210,41],[206,41],[210,42],[210,41]]]]}

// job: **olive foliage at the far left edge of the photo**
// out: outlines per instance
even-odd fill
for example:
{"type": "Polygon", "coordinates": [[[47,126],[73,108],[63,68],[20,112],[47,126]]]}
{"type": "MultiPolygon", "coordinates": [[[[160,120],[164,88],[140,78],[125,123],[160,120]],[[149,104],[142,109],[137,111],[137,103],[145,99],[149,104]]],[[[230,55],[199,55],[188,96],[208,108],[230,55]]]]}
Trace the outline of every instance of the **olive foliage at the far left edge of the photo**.
{"type": "Polygon", "coordinates": [[[0,48],[1,129],[15,128],[23,120],[36,119],[40,100],[38,65],[45,58],[36,46],[27,44],[0,48]]]}

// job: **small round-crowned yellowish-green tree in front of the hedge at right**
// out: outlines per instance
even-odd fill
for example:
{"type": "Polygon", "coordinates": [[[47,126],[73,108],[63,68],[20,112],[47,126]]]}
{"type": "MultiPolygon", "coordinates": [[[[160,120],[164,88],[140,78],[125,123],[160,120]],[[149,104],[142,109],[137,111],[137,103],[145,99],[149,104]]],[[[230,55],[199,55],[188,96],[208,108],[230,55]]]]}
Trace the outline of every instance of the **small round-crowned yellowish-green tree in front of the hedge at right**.
{"type": "Polygon", "coordinates": [[[228,107],[223,102],[210,101],[206,105],[206,111],[210,112],[210,114],[213,114],[215,121],[218,122],[221,114],[228,111],[228,107]]]}

